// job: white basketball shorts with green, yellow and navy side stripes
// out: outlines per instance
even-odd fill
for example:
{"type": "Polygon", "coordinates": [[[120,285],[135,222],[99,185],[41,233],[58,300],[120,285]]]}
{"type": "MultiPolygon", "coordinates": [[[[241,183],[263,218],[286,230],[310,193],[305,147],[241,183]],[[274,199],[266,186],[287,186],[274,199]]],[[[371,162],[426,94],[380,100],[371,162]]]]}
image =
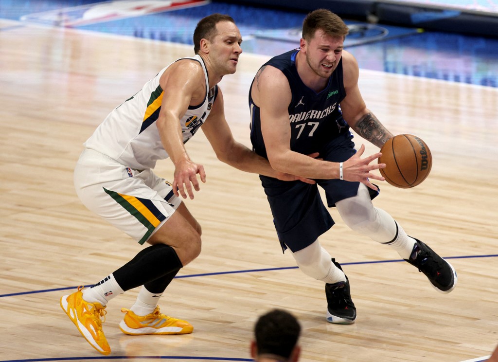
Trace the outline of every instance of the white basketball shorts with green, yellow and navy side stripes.
{"type": "Polygon", "coordinates": [[[140,244],[182,202],[152,170],[134,170],[88,148],[76,164],[74,186],[83,205],[140,244]]]}

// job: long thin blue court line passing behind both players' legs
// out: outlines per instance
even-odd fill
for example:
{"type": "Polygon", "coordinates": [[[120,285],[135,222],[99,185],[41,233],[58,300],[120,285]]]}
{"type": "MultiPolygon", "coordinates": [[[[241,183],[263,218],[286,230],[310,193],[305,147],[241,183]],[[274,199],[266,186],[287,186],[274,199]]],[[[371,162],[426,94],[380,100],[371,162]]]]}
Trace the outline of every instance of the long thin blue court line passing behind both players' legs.
{"type": "MultiPolygon", "coordinates": [[[[444,259],[470,259],[470,258],[481,258],[481,257],[497,257],[498,254],[486,254],[486,255],[462,255],[462,256],[445,256],[444,259]]],[[[374,261],[354,261],[349,263],[341,263],[341,265],[360,265],[360,264],[378,264],[378,263],[395,263],[402,262],[403,259],[391,259],[391,260],[374,260],[374,261]]],[[[214,273],[202,273],[202,274],[189,274],[189,275],[179,275],[176,276],[175,279],[179,278],[192,278],[196,276],[211,276],[211,275],[223,275],[223,274],[238,274],[238,273],[253,273],[260,271],[273,271],[273,270],[285,270],[285,269],[297,269],[297,266],[285,266],[278,268],[264,268],[264,269],[247,269],[247,270],[233,270],[233,271],[218,271],[214,273]]],[[[90,285],[84,285],[84,287],[90,287],[90,285]]],[[[42,289],[42,290],[32,290],[27,292],[18,292],[18,293],[9,293],[9,294],[0,294],[1,297],[12,297],[16,295],[26,295],[26,294],[36,294],[36,293],[46,293],[46,292],[54,292],[58,290],[70,290],[75,289],[77,286],[71,287],[63,287],[63,288],[53,288],[53,289],[42,289]]],[[[31,360],[29,360],[31,361],[31,360]]],[[[40,360],[42,361],[42,360],[40,360]]],[[[251,360],[249,360],[251,361],[251,360]]],[[[3,361],[0,361],[3,362],[3,361]]]]}

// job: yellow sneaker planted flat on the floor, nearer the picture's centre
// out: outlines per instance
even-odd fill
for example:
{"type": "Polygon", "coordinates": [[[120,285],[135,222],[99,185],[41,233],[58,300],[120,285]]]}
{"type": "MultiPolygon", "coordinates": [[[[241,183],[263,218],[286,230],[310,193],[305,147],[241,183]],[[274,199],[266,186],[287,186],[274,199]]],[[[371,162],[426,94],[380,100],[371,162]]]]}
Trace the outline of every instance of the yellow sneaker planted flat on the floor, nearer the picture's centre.
{"type": "Polygon", "coordinates": [[[192,333],[194,327],[181,319],[171,318],[159,313],[159,307],[144,317],[137,316],[129,309],[122,308],[126,313],[120,323],[120,329],[124,334],[137,336],[142,334],[188,334],[192,333]]]}

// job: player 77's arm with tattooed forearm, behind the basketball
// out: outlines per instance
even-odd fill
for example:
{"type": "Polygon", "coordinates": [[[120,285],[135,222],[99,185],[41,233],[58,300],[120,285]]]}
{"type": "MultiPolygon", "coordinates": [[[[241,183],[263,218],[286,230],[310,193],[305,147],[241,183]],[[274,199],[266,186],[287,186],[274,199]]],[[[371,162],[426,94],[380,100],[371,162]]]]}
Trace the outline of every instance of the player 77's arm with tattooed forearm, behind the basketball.
{"type": "Polygon", "coordinates": [[[393,135],[365,105],[358,87],[360,70],[355,57],[343,51],[342,60],[344,88],[346,89],[346,97],[341,102],[344,120],[359,135],[380,148],[393,135]]]}

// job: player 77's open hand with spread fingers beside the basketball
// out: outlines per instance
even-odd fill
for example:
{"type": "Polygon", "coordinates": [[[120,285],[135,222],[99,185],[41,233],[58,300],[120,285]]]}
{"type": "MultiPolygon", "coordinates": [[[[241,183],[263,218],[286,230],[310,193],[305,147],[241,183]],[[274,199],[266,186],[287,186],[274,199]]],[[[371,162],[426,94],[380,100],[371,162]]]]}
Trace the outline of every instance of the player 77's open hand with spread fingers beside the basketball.
{"type": "Polygon", "coordinates": [[[365,152],[365,145],[362,144],[358,152],[351,156],[349,160],[343,162],[343,178],[346,181],[359,181],[364,183],[373,190],[377,190],[377,187],[370,182],[370,179],[375,179],[379,181],[384,181],[385,179],[372,173],[371,171],[377,170],[379,168],[384,168],[385,163],[374,163],[370,164],[373,160],[382,156],[382,153],[377,152],[373,155],[361,158],[365,152]]]}

